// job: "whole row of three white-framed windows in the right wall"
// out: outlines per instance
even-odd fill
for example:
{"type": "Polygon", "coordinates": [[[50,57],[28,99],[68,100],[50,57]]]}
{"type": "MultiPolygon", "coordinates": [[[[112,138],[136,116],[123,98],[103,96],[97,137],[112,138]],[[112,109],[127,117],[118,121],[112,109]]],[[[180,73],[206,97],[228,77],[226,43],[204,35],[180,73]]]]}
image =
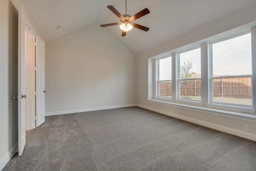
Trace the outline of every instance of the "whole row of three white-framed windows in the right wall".
{"type": "Polygon", "coordinates": [[[255,113],[256,54],[252,47],[256,41],[252,40],[256,40],[256,28],[232,33],[150,58],[148,101],[188,109],[215,108],[229,114],[255,113]]]}

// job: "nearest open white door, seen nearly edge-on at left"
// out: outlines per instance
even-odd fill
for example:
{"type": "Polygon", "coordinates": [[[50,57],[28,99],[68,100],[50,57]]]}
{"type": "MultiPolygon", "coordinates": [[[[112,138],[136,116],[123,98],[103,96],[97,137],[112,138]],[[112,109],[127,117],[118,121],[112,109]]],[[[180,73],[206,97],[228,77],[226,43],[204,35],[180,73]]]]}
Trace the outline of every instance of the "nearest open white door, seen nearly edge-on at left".
{"type": "Polygon", "coordinates": [[[26,16],[22,3],[19,3],[18,19],[18,148],[22,155],[26,144],[26,92],[25,92],[25,40],[26,16]]]}

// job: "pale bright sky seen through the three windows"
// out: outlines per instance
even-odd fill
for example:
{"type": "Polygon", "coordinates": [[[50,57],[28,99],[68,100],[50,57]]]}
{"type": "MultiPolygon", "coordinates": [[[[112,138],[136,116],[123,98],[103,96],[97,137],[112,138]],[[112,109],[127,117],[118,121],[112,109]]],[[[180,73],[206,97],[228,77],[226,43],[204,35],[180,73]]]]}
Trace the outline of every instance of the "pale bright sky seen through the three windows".
{"type": "MultiPolygon", "coordinates": [[[[191,61],[193,72],[201,74],[200,48],[180,53],[180,64],[191,61]]],[[[251,34],[246,34],[212,45],[212,68],[216,76],[252,74],[251,34]]],[[[160,60],[160,79],[172,80],[171,57],[160,60]]]]}

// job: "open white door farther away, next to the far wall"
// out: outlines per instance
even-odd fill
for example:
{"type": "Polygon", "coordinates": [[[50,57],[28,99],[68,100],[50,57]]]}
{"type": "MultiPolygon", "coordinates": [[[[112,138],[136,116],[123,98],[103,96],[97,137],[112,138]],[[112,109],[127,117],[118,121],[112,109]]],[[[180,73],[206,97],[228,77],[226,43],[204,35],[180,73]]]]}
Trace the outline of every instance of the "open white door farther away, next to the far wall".
{"type": "Polygon", "coordinates": [[[44,41],[36,36],[36,127],[45,121],[44,41]]]}

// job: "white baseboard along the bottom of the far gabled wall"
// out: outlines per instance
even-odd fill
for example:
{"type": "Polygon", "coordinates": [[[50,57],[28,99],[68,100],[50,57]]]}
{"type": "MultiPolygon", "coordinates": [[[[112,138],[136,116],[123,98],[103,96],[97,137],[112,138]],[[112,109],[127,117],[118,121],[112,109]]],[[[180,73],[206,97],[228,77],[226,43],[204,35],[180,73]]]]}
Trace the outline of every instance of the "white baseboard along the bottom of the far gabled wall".
{"type": "Polygon", "coordinates": [[[74,109],[74,110],[65,110],[65,111],[52,111],[52,112],[46,112],[46,116],[52,116],[52,115],[63,115],[68,113],[79,113],[79,112],[85,112],[85,111],[96,111],[96,110],[105,110],[105,109],[116,109],[116,108],[122,108],[122,107],[132,107],[137,106],[137,104],[127,104],[127,105],[115,105],[115,106],[104,106],[104,107],[93,107],[93,108],[86,108],[86,109],[74,109]]]}

